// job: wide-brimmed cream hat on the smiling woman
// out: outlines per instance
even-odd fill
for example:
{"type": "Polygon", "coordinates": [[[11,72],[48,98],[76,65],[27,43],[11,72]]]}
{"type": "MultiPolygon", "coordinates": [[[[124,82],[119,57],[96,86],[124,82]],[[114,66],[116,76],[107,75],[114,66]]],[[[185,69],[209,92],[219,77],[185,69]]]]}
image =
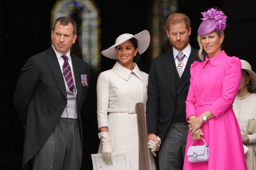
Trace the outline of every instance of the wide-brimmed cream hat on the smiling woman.
{"type": "Polygon", "coordinates": [[[116,39],[116,43],[112,45],[110,48],[105,49],[101,52],[101,54],[105,57],[108,57],[110,59],[117,59],[117,50],[116,46],[119,44],[122,44],[123,42],[127,41],[128,39],[136,38],[138,42],[138,49],[139,54],[142,54],[146,51],[146,49],[149,47],[150,43],[150,35],[149,31],[144,30],[136,35],[132,34],[122,34],[116,39]]]}

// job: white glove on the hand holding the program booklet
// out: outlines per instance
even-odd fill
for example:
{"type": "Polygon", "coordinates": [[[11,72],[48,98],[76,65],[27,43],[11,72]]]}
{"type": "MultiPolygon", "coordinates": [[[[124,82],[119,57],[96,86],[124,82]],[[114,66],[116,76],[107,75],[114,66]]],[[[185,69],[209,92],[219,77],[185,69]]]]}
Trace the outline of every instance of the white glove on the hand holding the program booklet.
{"type": "Polygon", "coordinates": [[[108,132],[100,132],[98,133],[99,139],[102,142],[102,157],[103,161],[110,165],[113,164],[113,156],[112,156],[112,147],[110,144],[110,137],[108,135],[108,132]]]}

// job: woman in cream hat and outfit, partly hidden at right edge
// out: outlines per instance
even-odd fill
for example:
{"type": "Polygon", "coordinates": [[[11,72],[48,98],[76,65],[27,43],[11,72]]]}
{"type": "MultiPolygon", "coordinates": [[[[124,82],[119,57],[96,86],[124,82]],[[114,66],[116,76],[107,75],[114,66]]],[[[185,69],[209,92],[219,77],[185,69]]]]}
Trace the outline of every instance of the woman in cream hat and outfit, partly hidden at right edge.
{"type": "Polygon", "coordinates": [[[252,71],[249,62],[242,62],[242,79],[233,103],[235,116],[238,120],[241,137],[244,145],[248,147],[245,159],[248,170],[256,170],[256,132],[247,132],[249,119],[256,120],[256,73],[252,71]]]}

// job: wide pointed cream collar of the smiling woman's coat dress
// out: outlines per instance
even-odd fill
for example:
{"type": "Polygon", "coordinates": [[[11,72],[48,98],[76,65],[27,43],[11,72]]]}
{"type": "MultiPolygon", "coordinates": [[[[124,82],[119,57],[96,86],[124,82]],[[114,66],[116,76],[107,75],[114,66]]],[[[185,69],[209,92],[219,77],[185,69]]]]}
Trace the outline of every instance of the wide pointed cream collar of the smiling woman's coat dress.
{"type": "Polygon", "coordinates": [[[140,80],[142,80],[142,75],[140,73],[139,67],[135,62],[132,63],[133,70],[127,69],[124,66],[122,66],[119,61],[116,62],[112,70],[120,77],[122,77],[124,80],[128,80],[131,73],[134,73],[140,80]]]}

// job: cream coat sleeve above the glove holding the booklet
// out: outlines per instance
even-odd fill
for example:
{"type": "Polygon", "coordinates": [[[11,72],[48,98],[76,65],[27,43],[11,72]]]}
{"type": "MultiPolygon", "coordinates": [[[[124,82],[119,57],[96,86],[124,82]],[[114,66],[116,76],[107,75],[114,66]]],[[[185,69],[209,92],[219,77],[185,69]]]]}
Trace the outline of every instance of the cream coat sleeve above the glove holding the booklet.
{"type": "Polygon", "coordinates": [[[108,127],[107,110],[109,103],[110,84],[107,73],[100,73],[97,81],[97,119],[98,128],[108,127]]]}

